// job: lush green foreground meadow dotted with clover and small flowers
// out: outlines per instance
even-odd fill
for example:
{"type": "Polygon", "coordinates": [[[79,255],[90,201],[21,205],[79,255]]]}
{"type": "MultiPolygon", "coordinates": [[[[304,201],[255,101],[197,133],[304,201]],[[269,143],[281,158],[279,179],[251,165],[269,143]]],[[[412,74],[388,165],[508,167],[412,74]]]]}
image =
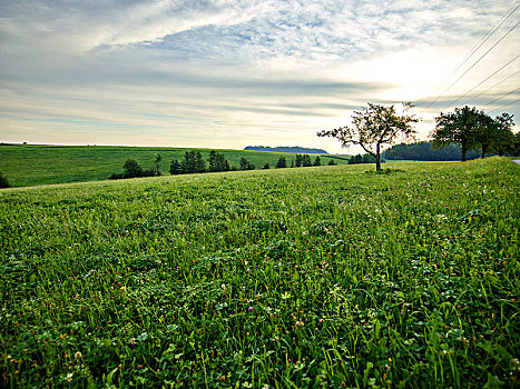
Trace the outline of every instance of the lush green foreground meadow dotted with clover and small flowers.
{"type": "Polygon", "coordinates": [[[520,167],[389,167],[0,191],[0,386],[518,386],[520,167]]]}

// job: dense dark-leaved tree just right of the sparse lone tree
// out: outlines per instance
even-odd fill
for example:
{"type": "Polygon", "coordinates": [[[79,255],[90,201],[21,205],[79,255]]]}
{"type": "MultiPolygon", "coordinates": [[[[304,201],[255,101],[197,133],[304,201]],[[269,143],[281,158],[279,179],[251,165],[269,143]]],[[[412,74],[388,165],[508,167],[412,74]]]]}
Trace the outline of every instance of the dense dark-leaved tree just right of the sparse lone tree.
{"type": "MultiPolygon", "coordinates": [[[[469,150],[477,149],[483,140],[482,133],[490,126],[490,118],[477,108],[455,108],[454,112],[442,113],[435,118],[435,129],[430,134],[435,149],[459,143],[461,161],[467,161],[469,150]]],[[[484,141],[485,142],[485,141],[484,141]]]]}

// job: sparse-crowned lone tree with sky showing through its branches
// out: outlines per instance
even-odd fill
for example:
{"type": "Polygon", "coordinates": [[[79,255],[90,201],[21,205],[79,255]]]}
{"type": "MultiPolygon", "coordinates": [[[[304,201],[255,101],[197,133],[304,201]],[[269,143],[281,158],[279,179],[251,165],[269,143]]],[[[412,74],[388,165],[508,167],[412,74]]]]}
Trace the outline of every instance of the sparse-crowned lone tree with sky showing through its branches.
{"type": "Polygon", "coordinates": [[[412,107],[410,102],[403,102],[403,112],[399,116],[394,106],[384,107],[369,102],[369,108],[354,111],[353,127],[323,130],[317,136],[336,138],[344,148],[352,144],[361,146],[375,158],[375,170],[381,170],[381,146],[393,143],[400,134],[406,139],[413,138],[415,133],[412,123],[418,122],[419,119],[408,114],[408,110],[412,107]]]}

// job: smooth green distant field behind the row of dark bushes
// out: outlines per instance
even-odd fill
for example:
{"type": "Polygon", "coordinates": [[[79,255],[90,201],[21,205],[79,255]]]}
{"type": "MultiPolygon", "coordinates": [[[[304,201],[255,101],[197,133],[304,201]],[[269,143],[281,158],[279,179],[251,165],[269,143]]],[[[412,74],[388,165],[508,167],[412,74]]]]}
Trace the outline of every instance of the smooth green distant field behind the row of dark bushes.
{"type": "MultiPolygon", "coordinates": [[[[112,172],[122,172],[122,164],[128,158],[135,159],[141,167],[151,167],[157,153],[160,153],[160,171],[169,174],[173,159],[181,160],[186,151],[194,149],[110,147],[110,146],[0,146],[0,171],[8,177],[13,187],[39,186],[106,180],[112,172]]],[[[210,149],[196,149],[207,161],[210,149]]],[[[274,168],[279,156],[291,159],[294,154],[267,151],[218,150],[226,156],[230,164],[239,166],[242,157],[252,161],[256,169],[265,163],[274,168]]],[[[314,161],[315,156],[311,156],[314,161]]],[[[322,156],[322,163],[330,158],[322,156]]],[[[337,164],[346,160],[334,159],[337,164]]]]}

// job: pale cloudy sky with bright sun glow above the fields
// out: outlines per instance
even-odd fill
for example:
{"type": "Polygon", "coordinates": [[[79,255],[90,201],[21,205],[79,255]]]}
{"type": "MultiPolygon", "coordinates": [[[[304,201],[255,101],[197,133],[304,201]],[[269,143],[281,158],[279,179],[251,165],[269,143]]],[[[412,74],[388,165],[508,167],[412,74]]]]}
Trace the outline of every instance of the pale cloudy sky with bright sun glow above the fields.
{"type": "Polygon", "coordinates": [[[520,123],[519,4],[0,0],[0,141],[352,153],[316,132],[367,102],[414,103],[419,140],[464,104],[520,123]]]}

